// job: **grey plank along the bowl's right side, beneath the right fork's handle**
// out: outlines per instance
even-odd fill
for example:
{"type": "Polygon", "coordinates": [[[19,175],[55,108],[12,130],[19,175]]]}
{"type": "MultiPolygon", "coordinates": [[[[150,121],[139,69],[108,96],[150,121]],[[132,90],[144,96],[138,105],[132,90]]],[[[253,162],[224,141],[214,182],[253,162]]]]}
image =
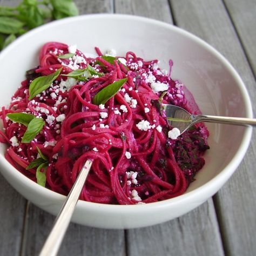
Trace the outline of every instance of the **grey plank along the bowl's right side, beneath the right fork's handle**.
{"type": "MultiPolygon", "coordinates": [[[[254,77],[223,2],[181,0],[171,1],[171,6],[177,25],[205,39],[230,60],[244,80],[254,103],[254,77]]],[[[255,32],[254,25],[255,23],[251,23],[250,31],[255,32]]],[[[253,109],[255,112],[255,104],[253,109]]],[[[256,195],[253,193],[256,190],[255,135],[254,130],[246,157],[237,172],[215,197],[227,255],[255,255],[256,252],[256,195]]]]}

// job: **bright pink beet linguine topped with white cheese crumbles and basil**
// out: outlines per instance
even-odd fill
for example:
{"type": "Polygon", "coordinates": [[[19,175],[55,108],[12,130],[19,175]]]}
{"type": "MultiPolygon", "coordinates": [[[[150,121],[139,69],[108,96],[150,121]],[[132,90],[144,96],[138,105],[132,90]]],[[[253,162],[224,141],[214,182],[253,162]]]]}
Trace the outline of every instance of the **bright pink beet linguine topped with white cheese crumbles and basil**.
{"type": "Polygon", "coordinates": [[[173,132],[161,103],[200,113],[191,93],[158,60],[114,51],[86,57],[75,45],[46,43],[39,66],[2,107],[6,159],[26,177],[68,194],[86,159],[80,199],[141,204],[183,194],[204,165],[208,131],[173,132]]]}

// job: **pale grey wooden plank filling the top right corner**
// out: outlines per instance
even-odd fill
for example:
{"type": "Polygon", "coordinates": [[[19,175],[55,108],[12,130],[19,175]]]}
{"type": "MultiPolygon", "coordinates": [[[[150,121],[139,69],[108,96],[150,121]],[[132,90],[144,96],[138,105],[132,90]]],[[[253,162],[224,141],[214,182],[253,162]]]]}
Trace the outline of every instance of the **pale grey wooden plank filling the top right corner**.
{"type": "Polygon", "coordinates": [[[224,0],[228,13],[237,29],[246,56],[256,74],[256,1],[224,0]]]}

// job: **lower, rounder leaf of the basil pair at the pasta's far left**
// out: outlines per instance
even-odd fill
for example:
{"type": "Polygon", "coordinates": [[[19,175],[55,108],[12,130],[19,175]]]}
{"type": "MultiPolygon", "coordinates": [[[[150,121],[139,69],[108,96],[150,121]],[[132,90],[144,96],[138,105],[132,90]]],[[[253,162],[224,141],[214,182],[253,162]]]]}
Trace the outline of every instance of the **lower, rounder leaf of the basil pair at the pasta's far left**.
{"type": "Polygon", "coordinates": [[[42,131],[45,125],[43,118],[34,118],[30,121],[28,128],[26,129],[22,138],[22,143],[30,143],[39,132],[42,131]]]}

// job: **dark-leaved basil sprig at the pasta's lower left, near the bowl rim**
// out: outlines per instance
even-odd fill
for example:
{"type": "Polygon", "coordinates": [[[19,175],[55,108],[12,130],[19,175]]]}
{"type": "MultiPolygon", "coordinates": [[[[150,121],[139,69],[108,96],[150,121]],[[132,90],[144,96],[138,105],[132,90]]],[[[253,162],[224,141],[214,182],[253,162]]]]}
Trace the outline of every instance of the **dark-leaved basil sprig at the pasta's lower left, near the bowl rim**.
{"type": "Polygon", "coordinates": [[[42,153],[42,151],[39,149],[39,147],[37,147],[37,151],[40,155],[39,158],[33,160],[27,167],[26,170],[32,169],[37,167],[36,169],[36,179],[37,179],[37,184],[45,187],[45,183],[46,183],[46,169],[49,166],[49,161],[47,159],[47,157],[45,157],[42,153]],[[43,172],[41,170],[44,170],[43,172]]]}

